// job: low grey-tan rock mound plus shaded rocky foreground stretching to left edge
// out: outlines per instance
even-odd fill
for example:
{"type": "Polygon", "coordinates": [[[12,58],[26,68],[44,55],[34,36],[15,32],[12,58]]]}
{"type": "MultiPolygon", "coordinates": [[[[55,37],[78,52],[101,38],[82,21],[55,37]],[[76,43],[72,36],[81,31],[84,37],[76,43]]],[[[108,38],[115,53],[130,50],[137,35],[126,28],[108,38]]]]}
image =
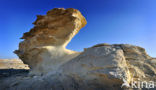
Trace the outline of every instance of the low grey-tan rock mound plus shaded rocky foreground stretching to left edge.
{"type": "Polygon", "coordinates": [[[138,46],[98,44],[86,48],[57,70],[44,75],[10,77],[1,85],[8,90],[146,90],[141,81],[150,82],[148,88],[156,85],[155,58],[138,46]],[[136,86],[132,86],[134,82],[136,86]]]}

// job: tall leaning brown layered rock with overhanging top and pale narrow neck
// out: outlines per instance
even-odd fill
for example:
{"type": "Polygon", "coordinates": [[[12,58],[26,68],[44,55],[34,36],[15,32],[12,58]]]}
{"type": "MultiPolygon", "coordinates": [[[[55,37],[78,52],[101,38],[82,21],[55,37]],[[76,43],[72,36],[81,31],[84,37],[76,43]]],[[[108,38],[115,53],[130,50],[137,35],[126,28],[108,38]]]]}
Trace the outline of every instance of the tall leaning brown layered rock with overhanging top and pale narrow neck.
{"type": "Polygon", "coordinates": [[[52,9],[46,15],[37,16],[34,28],[24,33],[24,41],[15,53],[34,71],[54,70],[79,55],[65,47],[86,23],[76,9],[52,9]]]}

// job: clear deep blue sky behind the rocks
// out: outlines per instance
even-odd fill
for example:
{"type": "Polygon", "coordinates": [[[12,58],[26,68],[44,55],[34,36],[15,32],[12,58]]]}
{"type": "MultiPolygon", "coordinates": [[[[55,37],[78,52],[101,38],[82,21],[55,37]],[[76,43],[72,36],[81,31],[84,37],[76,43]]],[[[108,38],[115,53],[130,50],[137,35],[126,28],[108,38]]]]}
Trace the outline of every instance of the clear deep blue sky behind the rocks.
{"type": "Polygon", "coordinates": [[[36,15],[57,7],[76,8],[88,21],[68,49],[124,43],[156,57],[156,0],[0,0],[0,58],[17,58],[13,51],[36,15]]]}

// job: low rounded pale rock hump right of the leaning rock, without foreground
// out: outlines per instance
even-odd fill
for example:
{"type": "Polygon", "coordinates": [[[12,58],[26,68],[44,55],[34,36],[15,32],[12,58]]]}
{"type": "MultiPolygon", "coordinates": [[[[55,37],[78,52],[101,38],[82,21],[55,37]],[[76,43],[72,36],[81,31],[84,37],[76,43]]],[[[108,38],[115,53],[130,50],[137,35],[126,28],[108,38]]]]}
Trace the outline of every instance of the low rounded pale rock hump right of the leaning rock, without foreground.
{"type": "Polygon", "coordinates": [[[110,87],[122,86],[124,81],[129,85],[133,81],[156,82],[156,59],[144,48],[129,44],[94,45],[63,64],[61,70],[110,87]]]}

